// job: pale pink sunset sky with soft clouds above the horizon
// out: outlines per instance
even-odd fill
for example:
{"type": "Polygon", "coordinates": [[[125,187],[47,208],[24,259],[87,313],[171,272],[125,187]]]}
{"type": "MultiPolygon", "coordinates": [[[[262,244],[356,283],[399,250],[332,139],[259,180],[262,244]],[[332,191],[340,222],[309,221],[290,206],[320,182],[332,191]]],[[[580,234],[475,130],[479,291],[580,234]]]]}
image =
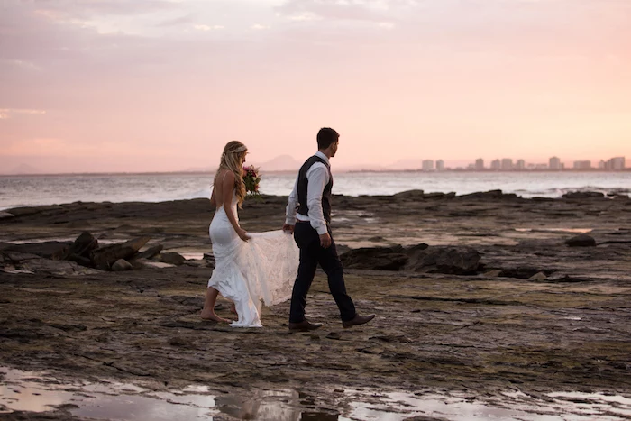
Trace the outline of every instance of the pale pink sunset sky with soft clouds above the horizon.
{"type": "Polygon", "coordinates": [[[4,0],[0,173],[631,157],[629,0],[4,0]]]}

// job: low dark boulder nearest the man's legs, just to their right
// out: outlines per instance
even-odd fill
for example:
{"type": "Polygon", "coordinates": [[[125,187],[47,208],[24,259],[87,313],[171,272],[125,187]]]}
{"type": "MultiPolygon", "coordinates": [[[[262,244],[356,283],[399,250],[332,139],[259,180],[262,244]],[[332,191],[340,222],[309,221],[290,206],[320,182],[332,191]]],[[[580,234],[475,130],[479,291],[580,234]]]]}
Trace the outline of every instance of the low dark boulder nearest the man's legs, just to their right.
{"type": "Polygon", "coordinates": [[[349,269],[400,270],[409,258],[405,249],[395,247],[362,247],[340,256],[344,267],[349,269]]]}

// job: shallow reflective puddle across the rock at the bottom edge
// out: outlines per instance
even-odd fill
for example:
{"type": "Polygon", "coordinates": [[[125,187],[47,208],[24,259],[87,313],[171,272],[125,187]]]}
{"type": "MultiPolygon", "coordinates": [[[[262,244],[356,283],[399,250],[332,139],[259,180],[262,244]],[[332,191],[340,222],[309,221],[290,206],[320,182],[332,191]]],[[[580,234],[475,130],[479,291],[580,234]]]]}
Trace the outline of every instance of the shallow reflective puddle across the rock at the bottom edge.
{"type": "Polygon", "coordinates": [[[436,390],[381,392],[336,389],[323,397],[337,412],[319,410],[315,397],[294,389],[253,389],[214,394],[205,385],[156,392],[103,380],[63,382],[45,373],[0,368],[0,413],[46,412],[64,405],[72,415],[105,420],[213,420],[222,414],[261,421],[403,421],[414,416],[453,421],[612,421],[631,417],[631,398],[599,393],[554,392],[535,398],[507,391],[479,399],[436,390]],[[331,404],[333,403],[333,404],[331,404]]]}

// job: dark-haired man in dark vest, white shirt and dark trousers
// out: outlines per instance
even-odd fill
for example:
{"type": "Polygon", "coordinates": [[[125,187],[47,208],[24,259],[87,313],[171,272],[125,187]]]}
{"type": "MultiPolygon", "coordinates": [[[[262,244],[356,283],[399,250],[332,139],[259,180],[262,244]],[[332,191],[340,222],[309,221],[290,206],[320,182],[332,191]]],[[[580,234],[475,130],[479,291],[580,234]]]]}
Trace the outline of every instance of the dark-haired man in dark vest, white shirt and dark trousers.
{"type": "Polygon", "coordinates": [[[305,318],[306,294],[318,263],[329,279],[329,289],[340,309],[343,327],[363,325],[375,317],[360,316],[355,312],[355,305],[346,293],[342,261],[331,237],[333,176],[329,160],[335,156],[339,139],[340,135],[333,129],[320,129],[317,133],[318,151],[298,171],[296,184],[289,195],[283,230],[294,233],[300,249],[300,264],[291,296],[290,331],[309,331],[322,326],[305,318]]]}

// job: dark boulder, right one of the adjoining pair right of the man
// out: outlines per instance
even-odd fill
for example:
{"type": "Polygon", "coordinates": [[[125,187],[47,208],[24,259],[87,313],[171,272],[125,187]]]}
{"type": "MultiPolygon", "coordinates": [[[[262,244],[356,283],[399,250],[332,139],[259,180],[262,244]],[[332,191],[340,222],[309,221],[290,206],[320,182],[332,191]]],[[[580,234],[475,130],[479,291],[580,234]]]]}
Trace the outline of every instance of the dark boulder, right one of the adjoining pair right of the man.
{"type": "Polygon", "coordinates": [[[403,270],[425,273],[471,275],[480,267],[480,252],[468,246],[414,246],[407,250],[403,270]]]}

